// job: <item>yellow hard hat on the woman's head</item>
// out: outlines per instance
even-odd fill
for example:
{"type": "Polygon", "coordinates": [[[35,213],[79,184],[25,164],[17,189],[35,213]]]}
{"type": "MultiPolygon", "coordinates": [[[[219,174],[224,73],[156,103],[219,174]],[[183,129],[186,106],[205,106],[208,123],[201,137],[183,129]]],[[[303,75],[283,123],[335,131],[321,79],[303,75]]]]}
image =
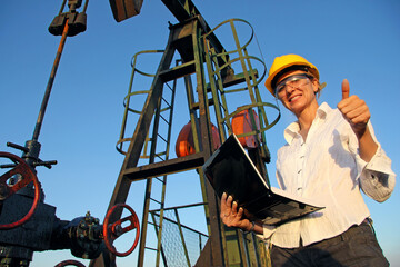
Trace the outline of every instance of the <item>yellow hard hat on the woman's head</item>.
{"type": "Polygon", "coordinates": [[[276,78],[278,73],[280,73],[283,69],[287,69],[291,66],[307,66],[309,67],[309,71],[313,77],[316,77],[319,80],[319,72],[316,66],[310,63],[307,59],[303,57],[300,57],[294,53],[290,55],[283,55],[281,57],[277,57],[273,60],[273,63],[269,70],[269,76],[266,80],[266,87],[267,89],[274,96],[274,90],[272,88],[272,81],[276,78]]]}

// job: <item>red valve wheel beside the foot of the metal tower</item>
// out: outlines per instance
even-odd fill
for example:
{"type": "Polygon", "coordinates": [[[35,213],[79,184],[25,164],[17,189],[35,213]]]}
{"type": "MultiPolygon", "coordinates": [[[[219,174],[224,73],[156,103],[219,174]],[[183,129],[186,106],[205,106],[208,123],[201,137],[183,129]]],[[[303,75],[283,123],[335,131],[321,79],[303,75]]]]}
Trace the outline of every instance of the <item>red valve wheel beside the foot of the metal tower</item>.
{"type": "Polygon", "coordinates": [[[110,253],[112,253],[113,255],[117,255],[119,257],[126,257],[126,256],[130,255],[133,251],[133,249],[137,247],[138,241],[139,241],[139,236],[140,236],[139,219],[138,219],[138,216],[136,215],[136,212],[133,211],[133,209],[126,204],[117,204],[116,206],[113,206],[106,215],[106,219],[104,219],[104,224],[103,224],[103,236],[104,236],[106,247],[108,248],[108,250],[110,253]],[[119,207],[128,209],[131,212],[131,215],[109,225],[109,220],[110,220],[112,212],[119,207]],[[122,224],[126,221],[130,221],[130,225],[127,227],[122,227],[122,224]],[[137,229],[137,234],[136,234],[136,238],[134,238],[134,243],[133,243],[132,247],[126,253],[118,253],[117,249],[114,248],[114,246],[112,246],[112,243],[121,235],[126,234],[127,231],[133,230],[133,229],[137,229]]]}

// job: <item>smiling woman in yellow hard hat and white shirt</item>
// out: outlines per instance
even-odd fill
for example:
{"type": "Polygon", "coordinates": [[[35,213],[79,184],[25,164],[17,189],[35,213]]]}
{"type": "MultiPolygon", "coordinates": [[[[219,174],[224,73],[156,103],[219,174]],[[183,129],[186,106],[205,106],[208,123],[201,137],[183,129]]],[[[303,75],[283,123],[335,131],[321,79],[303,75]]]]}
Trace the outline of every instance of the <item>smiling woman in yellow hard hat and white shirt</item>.
{"type": "Polygon", "coordinates": [[[270,229],[249,221],[223,194],[222,221],[269,239],[272,266],[388,266],[360,188],[384,201],[396,175],[376,140],[366,102],[350,96],[343,80],[338,108],[319,105],[319,71],[298,55],[276,58],[266,87],[297,117],[278,151],[279,186],[326,208],[270,229]]]}

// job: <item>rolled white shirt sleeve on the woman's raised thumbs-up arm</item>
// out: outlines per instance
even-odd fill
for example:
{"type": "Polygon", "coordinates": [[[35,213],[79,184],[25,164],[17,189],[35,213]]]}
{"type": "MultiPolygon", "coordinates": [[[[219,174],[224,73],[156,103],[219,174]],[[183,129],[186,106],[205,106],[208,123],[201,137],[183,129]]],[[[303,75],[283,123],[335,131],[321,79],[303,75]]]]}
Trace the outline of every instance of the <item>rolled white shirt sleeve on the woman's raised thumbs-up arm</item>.
{"type": "Polygon", "coordinates": [[[360,176],[362,191],[378,202],[387,200],[394,189],[396,174],[391,169],[391,159],[377,141],[371,123],[368,123],[378,149],[369,162],[366,162],[360,176]]]}

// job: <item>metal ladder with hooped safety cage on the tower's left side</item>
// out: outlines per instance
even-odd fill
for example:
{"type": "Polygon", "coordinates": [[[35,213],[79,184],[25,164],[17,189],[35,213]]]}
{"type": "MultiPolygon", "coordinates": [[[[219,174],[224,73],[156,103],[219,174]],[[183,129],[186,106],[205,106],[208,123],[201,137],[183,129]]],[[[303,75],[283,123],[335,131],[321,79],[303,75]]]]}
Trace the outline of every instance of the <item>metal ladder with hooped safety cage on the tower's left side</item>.
{"type": "MultiPolygon", "coordinates": [[[[122,121],[122,129],[120,134],[120,139],[117,142],[117,150],[126,154],[123,151],[123,144],[126,141],[130,141],[130,138],[126,138],[126,130],[127,130],[127,121],[128,117],[130,117],[130,112],[140,115],[140,110],[136,110],[134,108],[130,107],[131,98],[136,97],[137,95],[148,95],[150,93],[150,90],[133,90],[133,78],[136,75],[142,75],[147,77],[153,78],[154,75],[146,73],[137,67],[137,63],[139,62],[139,56],[143,53],[158,53],[163,52],[163,50],[148,50],[148,51],[141,51],[136,53],[132,57],[131,67],[132,67],[132,75],[131,80],[129,85],[129,91],[127,97],[124,98],[124,115],[123,115],[123,121],[122,121]]],[[[176,66],[179,65],[179,61],[176,62],[176,66]]],[[[167,90],[163,90],[160,100],[158,101],[156,112],[153,115],[153,121],[152,121],[152,134],[151,138],[150,131],[148,134],[148,137],[146,138],[143,151],[140,158],[148,159],[148,164],[154,164],[160,161],[166,161],[169,159],[170,154],[170,145],[171,145],[171,129],[172,129],[172,119],[173,119],[173,106],[174,106],[174,98],[176,98],[176,89],[177,89],[177,80],[172,80],[172,86],[169,83],[164,83],[167,90]],[[168,96],[167,96],[168,95],[168,96]],[[169,98],[169,99],[167,99],[169,98]],[[163,127],[161,127],[163,126],[163,127]]],[[[133,100],[133,99],[132,99],[133,100]]],[[[159,266],[160,263],[160,255],[161,255],[161,237],[162,237],[162,222],[163,222],[163,210],[164,210],[164,201],[166,201],[166,187],[167,187],[167,177],[168,175],[163,175],[161,177],[153,177],[149,178],[146,181],[146,192],[144,192],[144,202],[143,202],[143,215],[142,215],[142,226],[141,226],[141,240],[142,248],[150,249],[157,251],[157,259],[156,259],[156,266],[159,266]],[[158,188],[161,188],[161,191],[152,190],[153,182],[158,182],[161,186],[158,188]],[[156,196],[158,195],[158,196],[156,196]],[[149,218],[149,210],[150,206],[153,204],[153,206],[158,206],[159,210],[159,224],[156,224],[154,219],[153,221],[150,221],[149,218]],[[157,233],[157,247],[148,247],[146,246],[146,239],[147,239],[147,231],[148,226],[153,225],[156,233],[157,233]]],[[[166,261],[166,259],[164,259],[166,261]]]]}

